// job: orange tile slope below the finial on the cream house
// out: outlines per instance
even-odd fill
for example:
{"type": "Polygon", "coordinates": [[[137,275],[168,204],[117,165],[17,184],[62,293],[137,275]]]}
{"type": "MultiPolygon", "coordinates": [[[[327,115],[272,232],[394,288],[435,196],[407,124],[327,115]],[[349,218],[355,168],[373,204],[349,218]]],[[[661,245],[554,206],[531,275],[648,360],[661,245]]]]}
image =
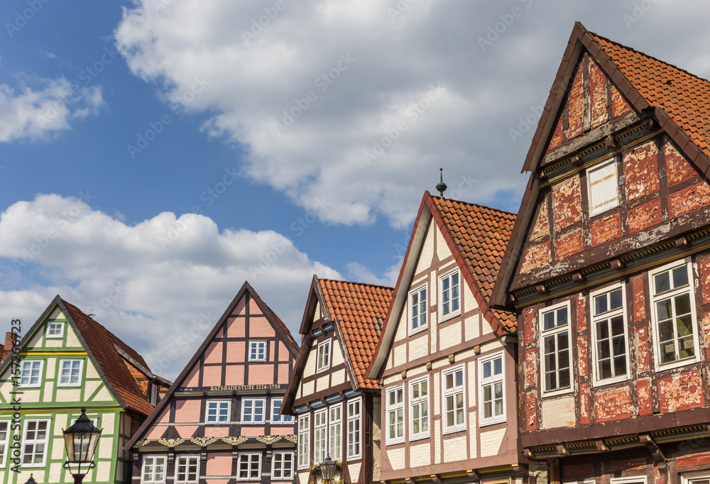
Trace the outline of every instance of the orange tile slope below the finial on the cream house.
{"type": "MultiPolygon", "coordinates": [[[[513,231],[515,214],[441,197],[432,199],[488,304],[513,231]]],[[[499,309],[491,312],[506,329],[515,331],[517,321],[512,312],[499,309]]]]}

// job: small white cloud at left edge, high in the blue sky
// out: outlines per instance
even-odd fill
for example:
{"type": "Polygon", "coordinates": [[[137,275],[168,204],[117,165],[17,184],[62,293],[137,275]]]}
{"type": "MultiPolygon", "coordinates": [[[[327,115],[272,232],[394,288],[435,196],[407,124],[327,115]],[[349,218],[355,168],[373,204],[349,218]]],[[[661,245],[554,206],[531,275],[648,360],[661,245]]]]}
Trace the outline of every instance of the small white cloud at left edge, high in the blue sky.
{"type": "Polygon", "coordinates": [[[105,104],[100,86],[72,86],[64,77],[40,82],[43,89],[23,84],[19,93],[0,84],[0,142],[70,129],[72,119],[95,116],[105,104]]]}

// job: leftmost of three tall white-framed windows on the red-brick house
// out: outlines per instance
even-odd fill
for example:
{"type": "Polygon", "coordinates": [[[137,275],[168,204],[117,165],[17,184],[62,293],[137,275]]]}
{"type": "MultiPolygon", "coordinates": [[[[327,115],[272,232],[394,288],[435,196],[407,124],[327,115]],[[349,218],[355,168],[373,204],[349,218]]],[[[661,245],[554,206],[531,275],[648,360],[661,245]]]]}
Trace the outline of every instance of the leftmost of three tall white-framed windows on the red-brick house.
{"type": "Polygon", "coordinates": [[[544,392],[570,390],[569,303],[540,311],[544,392]]]}

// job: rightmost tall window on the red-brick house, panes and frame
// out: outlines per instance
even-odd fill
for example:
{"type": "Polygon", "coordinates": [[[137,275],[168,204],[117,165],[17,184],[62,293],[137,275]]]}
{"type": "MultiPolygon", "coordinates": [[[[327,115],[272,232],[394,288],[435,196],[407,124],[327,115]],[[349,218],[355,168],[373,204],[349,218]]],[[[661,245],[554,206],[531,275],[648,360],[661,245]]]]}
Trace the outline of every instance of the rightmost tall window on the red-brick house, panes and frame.
{"type": "Polygon", "coordinates": [[[656,367],[673,368],[698,360],[695,299],[689,260],[650,273],[656,367]]]}

